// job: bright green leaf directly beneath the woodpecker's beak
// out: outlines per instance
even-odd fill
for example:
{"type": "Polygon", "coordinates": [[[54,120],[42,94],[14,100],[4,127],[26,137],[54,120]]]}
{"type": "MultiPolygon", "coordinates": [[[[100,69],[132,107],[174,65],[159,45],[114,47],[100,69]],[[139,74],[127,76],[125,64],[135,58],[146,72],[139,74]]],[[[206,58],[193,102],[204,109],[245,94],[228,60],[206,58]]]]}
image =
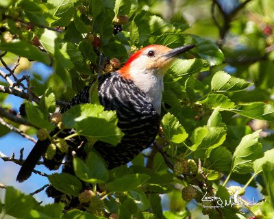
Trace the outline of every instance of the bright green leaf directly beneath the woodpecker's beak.
{"type": "Polygon", "coordinates": [[[190,59],[190,60],[181,60],[177,59],[169,68],[169,71],[172,72],[174,77],[182,77],[184,75],[192,75],[198,73],[201,69],[205,70],[208,66],[206,60],[201,59],[190,59]]]}

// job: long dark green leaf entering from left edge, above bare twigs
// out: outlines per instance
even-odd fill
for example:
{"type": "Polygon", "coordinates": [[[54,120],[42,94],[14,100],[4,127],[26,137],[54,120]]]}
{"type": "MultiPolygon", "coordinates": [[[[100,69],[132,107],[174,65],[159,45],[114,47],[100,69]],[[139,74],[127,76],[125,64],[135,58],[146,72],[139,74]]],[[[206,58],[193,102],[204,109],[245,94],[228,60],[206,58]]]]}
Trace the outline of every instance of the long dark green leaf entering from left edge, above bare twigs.
{"type": "Polygon", "coordinates": [[[0,49],[9,51],[15,55],[27,57],[29,60],[43,62],[47,65],[51,64],[51,59],[47,53],[40,51],[37,47],[25,41],[1,42],[0,49]]]}

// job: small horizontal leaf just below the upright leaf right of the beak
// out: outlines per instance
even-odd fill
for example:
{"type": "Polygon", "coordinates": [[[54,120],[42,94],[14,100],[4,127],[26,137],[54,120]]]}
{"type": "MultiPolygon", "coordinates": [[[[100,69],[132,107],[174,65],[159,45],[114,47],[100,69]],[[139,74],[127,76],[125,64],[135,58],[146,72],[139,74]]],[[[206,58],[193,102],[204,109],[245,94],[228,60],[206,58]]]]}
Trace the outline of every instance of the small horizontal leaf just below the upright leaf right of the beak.
{"type": "Polygon", "coordinates": [[[209,94],[206,99],[199,101],[198,103],[207,105],[208,107],[220,107],[223,109],[232,109],[234,103],[223,94],[209,94]]]}

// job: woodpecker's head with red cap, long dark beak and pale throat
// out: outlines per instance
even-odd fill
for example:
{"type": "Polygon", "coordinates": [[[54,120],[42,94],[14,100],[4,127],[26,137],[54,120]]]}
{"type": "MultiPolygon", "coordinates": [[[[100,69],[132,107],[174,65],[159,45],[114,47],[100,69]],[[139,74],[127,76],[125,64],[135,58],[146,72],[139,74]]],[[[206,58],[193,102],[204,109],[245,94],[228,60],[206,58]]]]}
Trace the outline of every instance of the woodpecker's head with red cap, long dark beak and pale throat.
{"type": "Polygon", "coordinates": [[[142,92],[145,92],[147,101],[153,104],[155,110],[160,113],[164,73],[169,69],[176,55],[195,46],[192,44],[170,49],[158,44],[150,45],[129,57],[118,73],[121,77],[132,80],[142,92]]]}

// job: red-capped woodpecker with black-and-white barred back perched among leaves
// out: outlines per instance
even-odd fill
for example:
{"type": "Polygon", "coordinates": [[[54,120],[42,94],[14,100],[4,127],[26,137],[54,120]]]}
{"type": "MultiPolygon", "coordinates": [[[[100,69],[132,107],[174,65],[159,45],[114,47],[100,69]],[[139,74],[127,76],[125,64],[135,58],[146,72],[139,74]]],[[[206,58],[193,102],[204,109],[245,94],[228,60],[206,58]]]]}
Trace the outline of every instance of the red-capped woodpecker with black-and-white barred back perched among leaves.
{"type": "MultiPolygon", "coordinates": [[[[160,127],[160,113],[162,105],[162,92],[164,90],[164,74],[170,68],[175,57],[184,53],[196,44],[184,45],[171,49],[160,44],[151,44],[136,51],[125,65],[112,73],[106,73],[98,78],[98,97],[104,110],[115,110],[118,117],[117,126],[124,136],[116,146],[97,141],[94,148],[105,159],[108,169],[130,162],[136,155],[147,149],[158,134],[160,127]]],[[[73,105],[90,103],[90,88],[94,82],[80,91],[60,113],[66,112],[73,105]]],[[[53,136],[55,130],[50,133],[53,136]]],[[[73,130],[64,130],[60,138],[69,136],[73,130]]],[[[86,138],[77,137],[70,141],[70,146],[79,142],[86,142],[86,138]]],[[[49,170],[60,167],[65,155],[69,153],[57,151],[53,159],[47,159],[45,152],[50,140],[38,140],[29,153],[18,172],[16,181],[23,182],[32,175],[36,164],[41,157],[49,170]]],[[[83,147],[82,147],[83,148],[83,147]]],[[[85,158],[84,150],[78,150],[77,155],[85,158]]],[[[64,172],[73,172],[73,168],[63,166],[64,172]],[[67,170],[66,170],[67,168],[67,170]]]]}

